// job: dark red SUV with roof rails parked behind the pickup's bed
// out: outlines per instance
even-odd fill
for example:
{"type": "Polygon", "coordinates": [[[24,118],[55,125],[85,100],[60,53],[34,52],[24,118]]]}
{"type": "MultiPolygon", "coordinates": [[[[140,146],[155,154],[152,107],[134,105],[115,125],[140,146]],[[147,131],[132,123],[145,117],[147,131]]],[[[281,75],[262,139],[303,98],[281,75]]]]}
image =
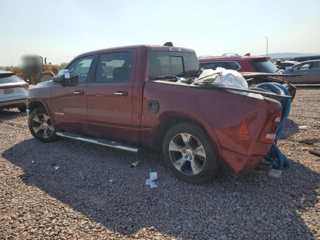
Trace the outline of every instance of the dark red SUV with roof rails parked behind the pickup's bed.
{"type": "Polygon", "coordinates": [[[200,56],[199,64],[205,69],[223,67],[241,72],[278,72],[278,68],[269,61],[267,56],[251,56],[249,53],[240,56],[233,53],[224,53],[222,56],[200,56]]]}

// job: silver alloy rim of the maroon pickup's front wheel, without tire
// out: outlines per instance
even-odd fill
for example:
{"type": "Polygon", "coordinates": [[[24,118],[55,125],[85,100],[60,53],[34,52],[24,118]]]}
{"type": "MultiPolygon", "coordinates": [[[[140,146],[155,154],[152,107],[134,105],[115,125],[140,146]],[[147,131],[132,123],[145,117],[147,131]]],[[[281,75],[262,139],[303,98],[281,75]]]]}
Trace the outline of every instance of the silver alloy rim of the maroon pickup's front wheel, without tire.
{"type": "Polygon", "coordinates": [[[32,129],[42,138],[49,138],[54,132],[50,117],[43,113],[38,113],[32,118],[32,129]]]}

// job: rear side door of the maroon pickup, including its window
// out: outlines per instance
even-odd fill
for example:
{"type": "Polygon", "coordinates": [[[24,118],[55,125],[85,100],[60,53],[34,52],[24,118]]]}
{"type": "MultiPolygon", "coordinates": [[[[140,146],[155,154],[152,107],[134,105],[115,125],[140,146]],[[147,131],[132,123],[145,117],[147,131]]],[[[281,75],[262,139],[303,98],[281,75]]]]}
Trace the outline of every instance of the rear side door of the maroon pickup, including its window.
{"type": "Polygon", "coordinates": [[[95,77],[88,83],[89,131],[101,136],[132,138],[132,85],[136,51],[102,52],[95,77]]]}

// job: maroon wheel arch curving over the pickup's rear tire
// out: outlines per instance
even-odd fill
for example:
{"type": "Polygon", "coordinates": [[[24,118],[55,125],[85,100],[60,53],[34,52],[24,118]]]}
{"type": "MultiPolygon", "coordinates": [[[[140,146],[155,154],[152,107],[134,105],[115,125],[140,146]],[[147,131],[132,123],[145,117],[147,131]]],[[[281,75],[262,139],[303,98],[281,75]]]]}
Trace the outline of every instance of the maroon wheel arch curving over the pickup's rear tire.
{"type": "Polygon", "coordinates": [[[162,114],[159,119],[160,121],[156,128],[154,141],[154,146],[156,148],[162,146],[164,135],[172,126],[181,122],[188,122],[200,127],[207,133],[211,141],[213,150],[217,153],[217,157],[221,159],[222,153],[218,138],[215,134],[214,129],[205,121],[199,119],[196,116],[193,116],[192,114],[185,114],[181,112],[167,112],[166,114],[162,114]]]}

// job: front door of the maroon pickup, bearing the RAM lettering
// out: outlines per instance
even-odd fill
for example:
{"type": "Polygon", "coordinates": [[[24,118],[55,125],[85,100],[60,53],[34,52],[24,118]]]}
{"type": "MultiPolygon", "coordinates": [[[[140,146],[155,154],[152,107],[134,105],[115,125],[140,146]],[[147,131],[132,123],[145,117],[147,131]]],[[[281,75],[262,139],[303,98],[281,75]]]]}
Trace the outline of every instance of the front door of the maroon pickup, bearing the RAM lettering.
{"type": "Polygon", "coordinates": [[[93,55],[75,59],[66,68],[72,81],[58,83],[51,89],[51,108],[57,127],[87,131],[86,88],[91,76],[93,55]]]}

